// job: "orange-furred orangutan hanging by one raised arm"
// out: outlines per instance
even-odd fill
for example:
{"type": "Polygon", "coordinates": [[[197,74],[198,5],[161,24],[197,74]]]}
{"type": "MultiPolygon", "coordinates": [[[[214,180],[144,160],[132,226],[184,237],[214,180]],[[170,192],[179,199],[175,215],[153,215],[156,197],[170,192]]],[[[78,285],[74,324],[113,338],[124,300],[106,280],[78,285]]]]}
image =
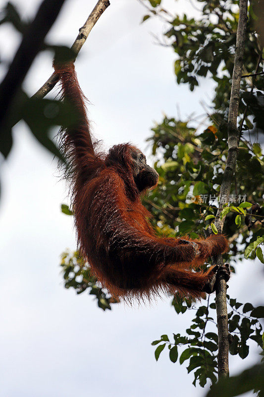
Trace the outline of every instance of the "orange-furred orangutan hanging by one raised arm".
{"type": "Polygon", "coordinates": [[[211,292],[218,266],[193,269],[227,252],[225,237],[158,237],[140,198],[157,186],[158,173],[128,143],[97,152],[73,63],[54,62],[54,69],[63,98],[77,113],[74,124],[61,131],[62,146],[70,164],[78,246],[98,280],[113,296],[128,299],[160,291],[198,298],[211,292]]]}

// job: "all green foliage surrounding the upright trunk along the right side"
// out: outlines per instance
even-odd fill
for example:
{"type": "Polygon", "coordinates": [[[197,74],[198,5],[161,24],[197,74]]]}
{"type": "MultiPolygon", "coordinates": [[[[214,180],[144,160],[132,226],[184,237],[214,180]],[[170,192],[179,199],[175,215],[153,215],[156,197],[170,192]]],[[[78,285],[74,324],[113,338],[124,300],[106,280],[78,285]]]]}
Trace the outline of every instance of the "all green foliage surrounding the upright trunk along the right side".
{"type": "MultiPolygon", "coordinates": [[[[153,134],[148,139],[152,153],[157,157],[156,168],[160,174],[160,189],[151,192],[145,199],[146,205],[154,214],[153,224],[158,223],[157,232],[162,235],[173,237],[187,234],[196,237],[203,235],[204,228],[213,225],[219,201],[225,202],[226,199],[218,195],[228,150],[227,117],[238,1],[197,0],[195,6],[202,7],[197,20],[188,18],[187,15],[172,15],[162,8],[162,1],[153,13],[150,1],[143,2],[149,8],[149,16],[158,15],[166,20],[168,29],[165,36],[168,38],[168,46],[176,54],[177,83],[187,83],[193,90],[203,83],[203,77],[211,77],[215,82],[215,95],[208,111],[208,125],[203,132],[200,127],[194,128],[192,120],[182,121],[165,116],[152,129],[153,134]]],[[[262,49],[254,27],[255,19],[250,3],[243,74],[254,73],[255,68],[258,71],[258,65],[259,70],[263,69],[262,49]]],[[[222,212],[222,217],[226,216],[223,231],[229,237],[231,248],[225,259],[232,265],[244,258],[254,260],[256,257],[264,263],[264,210],[261,208],[264,155],[258,143],[258,133],[263,132],[263,104],[262,76],[243,78],[239,102],[239,154],[228,204],[222,212]]],[[[217,230],[213,231],[217,233],[217,230]]],[[[230,297],[228,304],[231,309],[228,313],[230,354],[244,359],[249,354],[249,340],[255,341],[260,348],[263,347],[263,331],[259,319],[263,318],[264,307],[254,309],[251,303],[243,305],[230,297]]],[[[173,306],[178,314],[195,308],[193,303],[175,298],[173,306]]],[[[202,387],[207,380],[211,380],[212,384],[216,382],[218,338],[216,332],[206,331],[208,324],[213,324],[214,318],[215,303],[209,305],[208,301],[208,306],[202,305],[197,309],[192,325],[186,330],[187,335],[174,334],[174,342],[167,335],[162,335],[153,342],[158,347],[162,343],[162,350],[165,345],[169,351],[176,346],[177,353],[179,347],[184,346],[185,349],[178,353],[178,361],[182,364],[189,360],[187,370],[194,372],[194,385],[199,381],[202,387]]],[[[223,386],[224,389],[221,389],[222,383],[219,383],[210,395],[236,396],[254,388],[260,390],[262,371],[263,366],[252,367],[243,373],[247,379],[251,377],[248,383],[241,382],[243,378],[240,375],[231,378],[230,384],[223,386]],[[234,386],[238,384],[239,393],[234,386]],[[233,385],[233,391],[230,385],[233,385]]],[[[263,393],[263,388],[261,390],[263,393]]]]}

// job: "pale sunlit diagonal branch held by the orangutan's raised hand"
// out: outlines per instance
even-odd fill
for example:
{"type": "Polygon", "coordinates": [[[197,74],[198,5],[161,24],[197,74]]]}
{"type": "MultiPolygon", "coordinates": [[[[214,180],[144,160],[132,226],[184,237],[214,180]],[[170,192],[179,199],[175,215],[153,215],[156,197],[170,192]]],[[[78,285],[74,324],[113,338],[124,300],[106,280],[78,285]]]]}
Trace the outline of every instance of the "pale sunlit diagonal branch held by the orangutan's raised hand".
{"type": "MultiPolygon", "coordinates": [[[[106,10],[106,8],[110,5],[109,0],[99,0],[94,7],[93,11],[89,15],[87,21],[85,24],[79,29],[79,34],[76,37],[73,45],[71,46],[71,49],[73,50],[75,54],[75,59],[84,45],[87,37],[89,36],[89,33],[91,32],[92,28],[100,18],[100,16],[103,14],[103,12],[106,10]]],[[[75,61],[74,59],[74,61],[75,61]]],[[[56,85],[58,82],[58,76],[55,72],[50,76],[50,78],[46,81],[45,84],[32,96],[32,98],[35,99],[41,99],[44,98],[56,85]]]]}

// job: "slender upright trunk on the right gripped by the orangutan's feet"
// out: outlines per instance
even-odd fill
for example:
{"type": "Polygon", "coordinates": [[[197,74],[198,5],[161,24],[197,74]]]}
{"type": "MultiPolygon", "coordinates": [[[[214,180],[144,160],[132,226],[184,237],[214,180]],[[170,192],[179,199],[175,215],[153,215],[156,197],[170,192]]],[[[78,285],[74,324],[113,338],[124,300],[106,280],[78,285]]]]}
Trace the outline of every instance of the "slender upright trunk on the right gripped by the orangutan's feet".
{"type": "MultiPolygon", "coordinates": [[[[228,197],[231,189],[231,183],[236,167],[236,160],[238,155],[239,131],[237,129],[237,116],[239,104],[239,90],[243,66],[243,54],[245,47],[246,24],[247,24],[248,1],[240,0],[239,2],[239,20],[236,37],[236,52],[232,77],[231,96],[228,114],[228,154],[226,166],[223,174],[223,181],[220,188],[220,196],[228,202],[228,197]]],[[[223,204],[217,211],[215,218],[215,226],[219,232],[223,229],[225,217],[220,219],[223,204]]],[[[209,229],[207,229],[209,230],[209,229]]],[[[223,265],[222,256],[212,258],[213,265],[223,265]]],[[[229,376],[228,367],[228,318],[226,307],[226,281],[223,276],[217,280],[216,285],[216,313],[217,313],[217,328],[218,328],[218,378],[229,376]]]]}

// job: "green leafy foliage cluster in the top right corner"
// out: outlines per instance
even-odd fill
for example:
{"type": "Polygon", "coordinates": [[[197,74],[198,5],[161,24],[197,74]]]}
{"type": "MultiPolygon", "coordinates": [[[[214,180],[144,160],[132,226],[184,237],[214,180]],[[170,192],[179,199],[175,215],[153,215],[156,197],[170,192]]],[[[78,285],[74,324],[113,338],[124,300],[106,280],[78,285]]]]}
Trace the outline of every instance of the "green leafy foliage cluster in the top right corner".
{"type": "MultiPolygon", "coordinates": [[[[228,116],[229,98],[231,92],[231,78],[234,65],[236,31],[238,23],[238,1],[196,0],[195,8],[201,9],[196,20],[183,16],[172,15],[163,8],[162,1],[151,7],[149,0],[143,0],[149,8],[150,16],[159,15],[168,26],[165,36],[168,45],[176,54],[175,75],[177,83],[186,83],[193,90],[203,83],[204,77],[211,77],[215,84],[213,98],[213,118],[218,125],[225,122],[228,116]],[[153,12],[155,11],[155,12],[153,12]]],[[[249,20],[244,53],[243,74],[255,72],[260,50],[259,37],[256,34],[253,2],[249,3],[249,20]]],[[[263,62],[261,62],[263,65],[263,62]]],[[[260,66],[260,70],[263,68],[260,66]]],[[[240,121],[243,119],[246,107],[248,113],[243,131],[253,129],[252,118],[255,117],[255,129],[263,129],[264,79],[261,75],[243,78],[241,84],[241,98],[239,103],[240,121]],[[251,87],[254,82],[254,90],[251,87]]]]}

